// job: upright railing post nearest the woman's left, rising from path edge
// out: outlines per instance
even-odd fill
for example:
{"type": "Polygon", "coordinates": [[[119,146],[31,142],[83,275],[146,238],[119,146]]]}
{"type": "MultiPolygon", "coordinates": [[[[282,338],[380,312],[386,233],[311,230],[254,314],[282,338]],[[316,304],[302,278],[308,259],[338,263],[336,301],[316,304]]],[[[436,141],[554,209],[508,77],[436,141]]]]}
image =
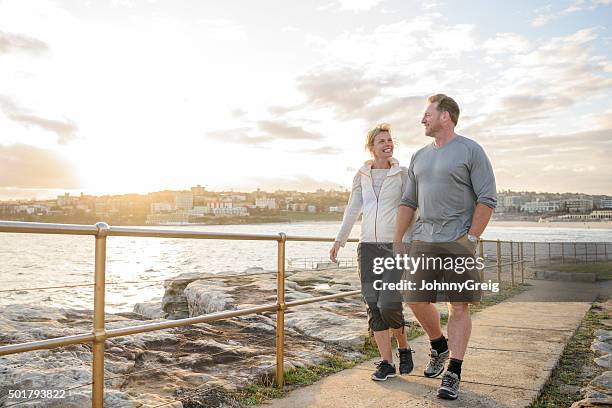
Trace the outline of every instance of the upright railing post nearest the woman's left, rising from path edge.
{"type": "Polygon", "coordinates": [[[280,233],[278,241],[278,273],[276,275],[276,386],[285,385],[285,242],[280,233]]]}

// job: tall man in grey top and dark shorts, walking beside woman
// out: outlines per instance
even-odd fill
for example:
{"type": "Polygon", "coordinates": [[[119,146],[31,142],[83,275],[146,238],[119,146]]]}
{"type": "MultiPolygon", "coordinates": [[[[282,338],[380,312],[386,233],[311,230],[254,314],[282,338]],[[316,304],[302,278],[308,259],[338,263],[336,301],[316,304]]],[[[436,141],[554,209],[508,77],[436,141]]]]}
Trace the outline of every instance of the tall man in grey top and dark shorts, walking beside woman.
{"type": "MultiPolygon", "coordinates": [[[[425,135],[434,140],[412,156],[408,185],[397,215],[396,252],[401,250],[402,237],[418,208],[419,216],[412,232],[411,257],[448,255],[455,261],[474,257],[478,239],[497,204],[495,177],[482,147],[455,133],[458,119],[459,106],[452,98],[437,94],[427,99],[421,123],[425,126],[425,135]]],[[[423,281],[479,281],[475,269],[449,271],[434,267],[426,270],[423,265],[406,273],[409,280],[415,281],[417,289],[423,281]]],[[[438,397],[456,399],[461,365],[472,329],[469,303],[478,303],[481,292],[445,293],[449,300],[448,341],[442,334],[440,315],[433,304],[437,291],[410,290],[403,294],[431,342],[431,358],[425,376],[440,375],[450,357],[438,397]]]]}

